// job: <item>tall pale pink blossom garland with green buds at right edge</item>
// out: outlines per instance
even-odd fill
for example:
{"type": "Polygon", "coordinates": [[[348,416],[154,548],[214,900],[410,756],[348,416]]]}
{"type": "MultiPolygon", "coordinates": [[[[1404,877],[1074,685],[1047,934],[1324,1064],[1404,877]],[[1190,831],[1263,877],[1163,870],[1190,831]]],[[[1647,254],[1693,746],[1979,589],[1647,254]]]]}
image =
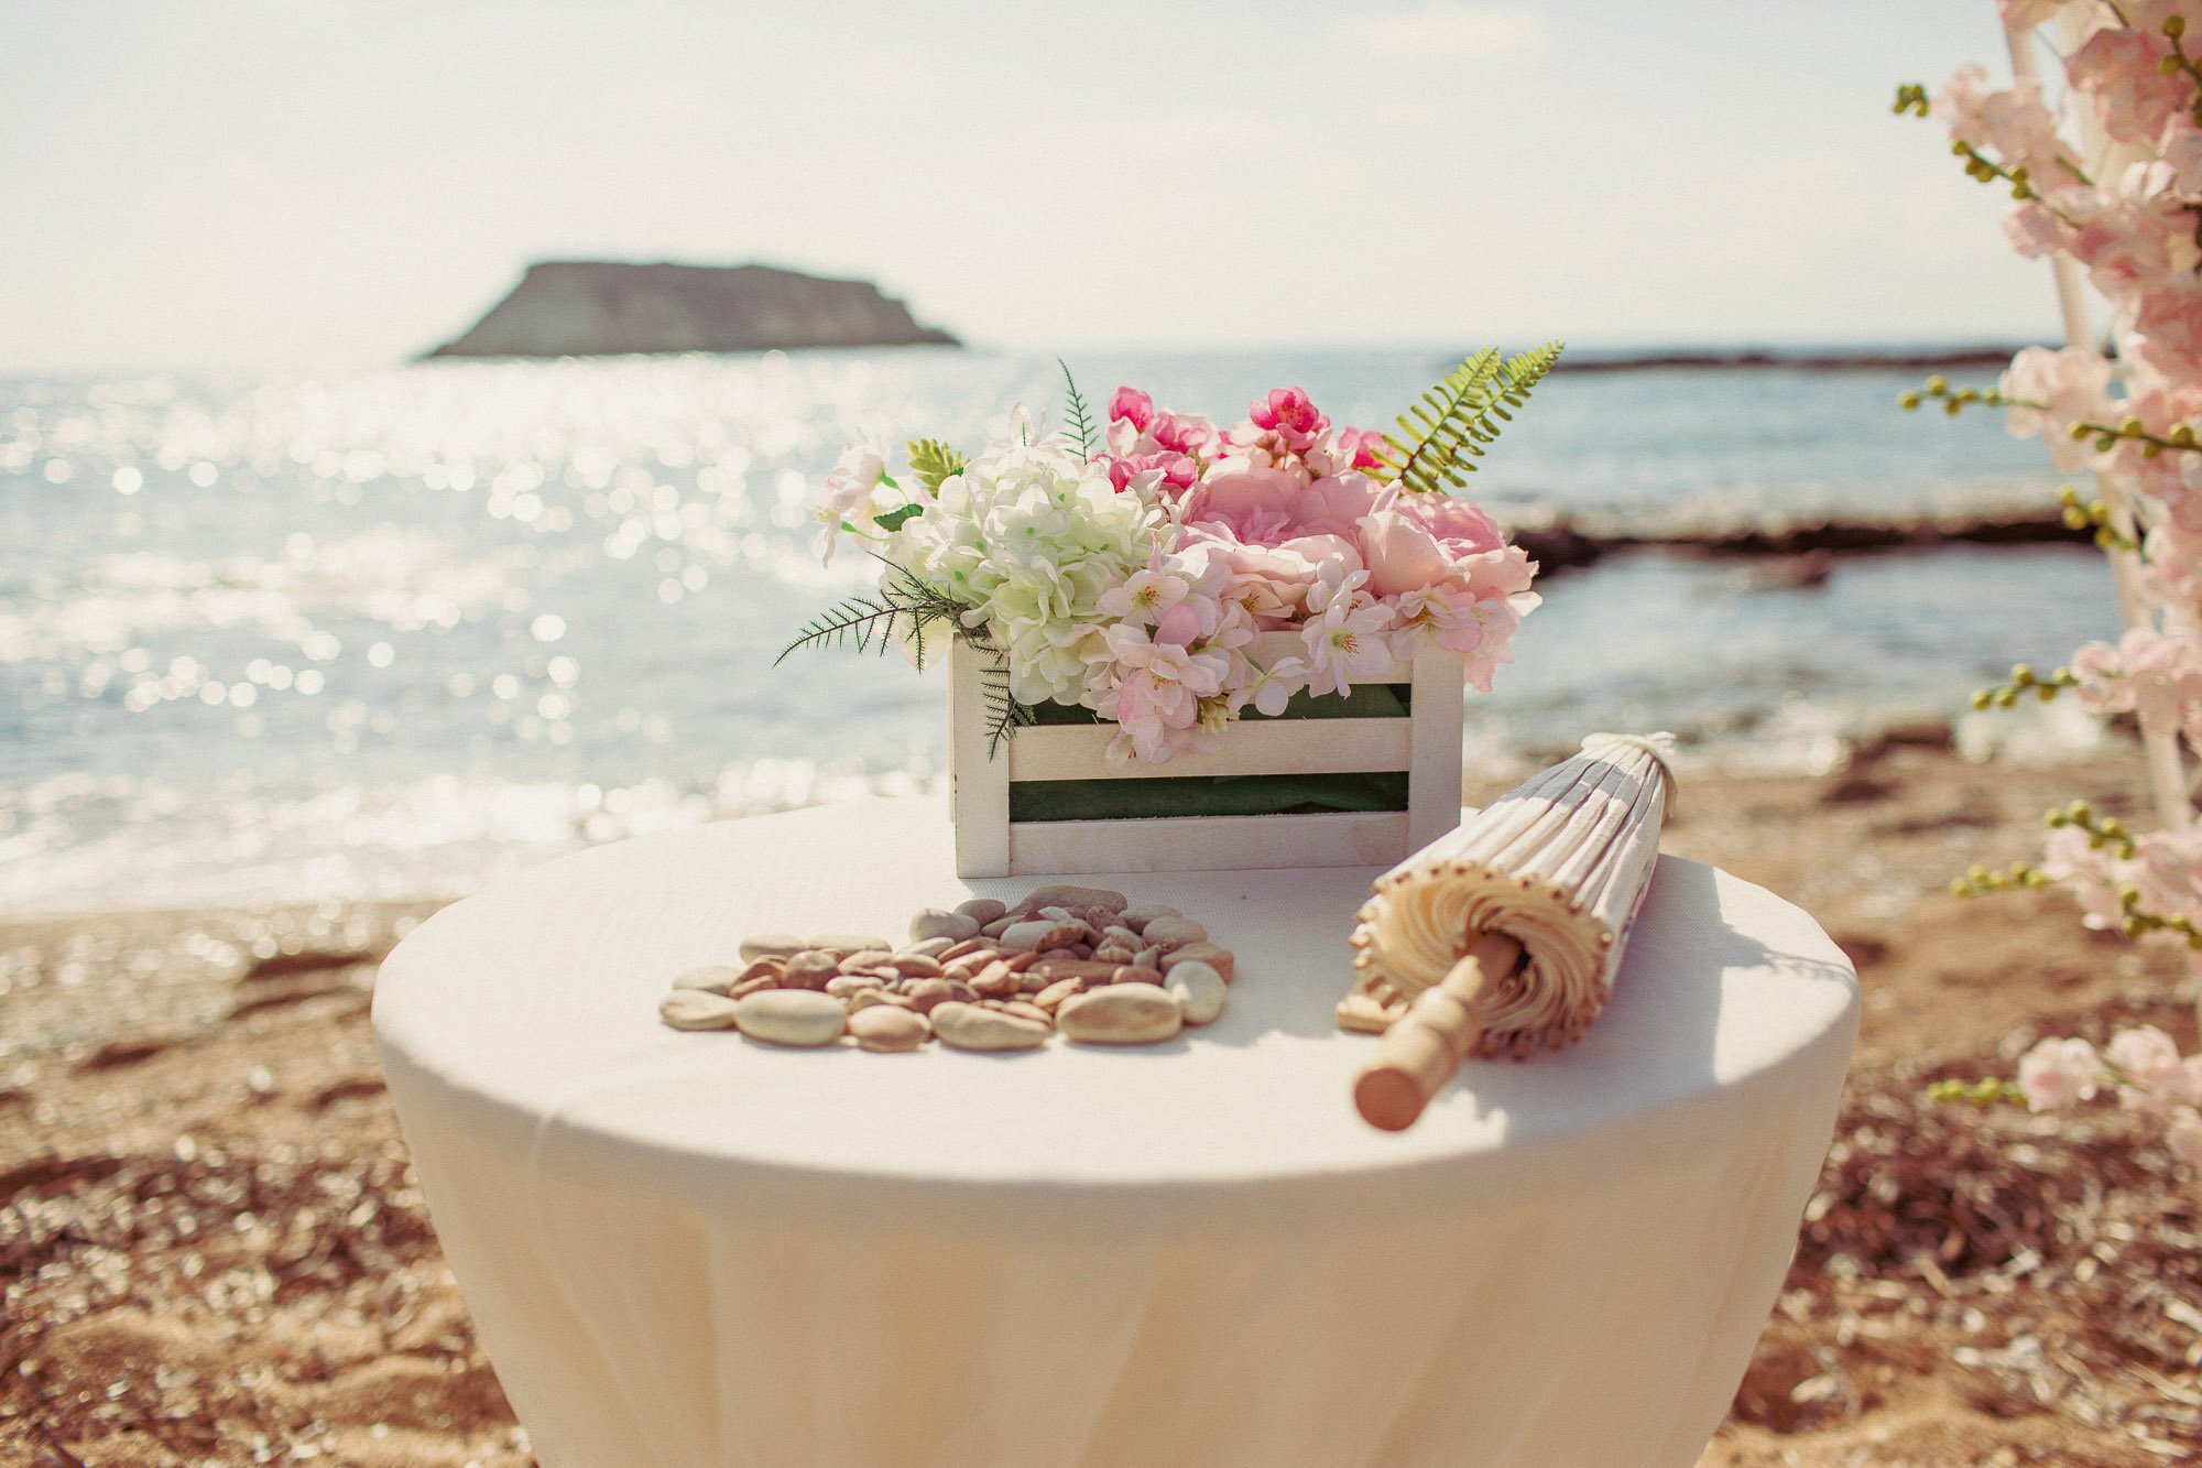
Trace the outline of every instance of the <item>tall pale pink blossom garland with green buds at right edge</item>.
{"type": "MultiPolygon", "coordinates": [[[[1975,708],[2070,690],[2096,714],[2134,714],[2156,794],[2156,829],[2134,833],[2085,802],[2050,811],[2039,864],[1975,866],[1958,893],[2068,886],[2090,928],[2182,943],[2202,965],[2202,827],[2184,758],[2202,747],[2202,4],[2178,0],[1999,0],[2015,77],[1995,88],[1964,66],[1936,95],[1898,88],[1896,110],[1938,117],[1951,152],[2006,185],[2010,245],[2048,258],[2070,344],[2030,346],[1995,388],[1933,377],[1905,408],[1940,401],[2004,408],[2017,436],[2039,436],[2065,489],[2065,522],[2094,529],[2112,560],[2125,635],[2087,644],[2050,674],[2013,668],[1975,708]],[[2061,71],[2054,93],[2039,57],[2061,71]],[[2107,350],[2083,282],[2107,306],[2107,350]]],[[[2169,1140],[2202,1164],[2202,1060],[2180,1060],[2156,1029],[2125,1032],[2096,1054],[2043,1040],[2017,1084],[1949,1082],[1944,1098],[2026,1100],[2037,1111],[2114,1087],[2169,1118],[2169,1140]]]]}

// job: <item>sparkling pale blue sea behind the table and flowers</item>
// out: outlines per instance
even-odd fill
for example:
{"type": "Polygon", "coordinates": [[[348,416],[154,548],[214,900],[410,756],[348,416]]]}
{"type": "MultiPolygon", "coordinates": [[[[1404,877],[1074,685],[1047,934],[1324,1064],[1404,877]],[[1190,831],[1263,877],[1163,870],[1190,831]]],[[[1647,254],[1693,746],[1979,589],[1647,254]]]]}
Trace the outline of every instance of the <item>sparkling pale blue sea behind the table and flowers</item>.
{"type": "MultiPolygon", "coordinates": [[[[1442,350],[1083,353],[1216,419],[1304,386],[1383,425],[1442,350]]],[[[1788,525],[2054,500],[1995,414],[1918,373],[1557,375],[1471,492],[1502,518],[1788,525]]],[[[945,674],[804,652],[876,562],[815,553],[846,441],[975,447],[1061,414],[1050,357],[901,348],[0,377],[0,913],[462,895],[634,833],[945,780],[945,674]]],[[[1702,767],[1828,769],[1960,723],[2015,661],[2112,635],[2085,547],[1764,560],[1629,551],[1550,578],[1469,703],[1469,767],[1671,730],[1702,767]]],[[[1997,725],[1997,721],[2004,721],[1997,725]]]]}

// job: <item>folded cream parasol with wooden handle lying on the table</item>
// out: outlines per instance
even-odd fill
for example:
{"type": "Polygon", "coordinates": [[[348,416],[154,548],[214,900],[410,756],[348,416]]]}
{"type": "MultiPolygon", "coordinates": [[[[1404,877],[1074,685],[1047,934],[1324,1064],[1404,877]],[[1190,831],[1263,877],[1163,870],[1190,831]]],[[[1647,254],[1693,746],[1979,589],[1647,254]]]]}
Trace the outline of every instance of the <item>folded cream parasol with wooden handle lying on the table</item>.
{"type": "Polygon", "coordinates": [[[1671,734],[1592,734],[1376,886],[1339,1027],[1383,1034],[1361,1115],[1403,1131],[1471,1054],[1577,1040],[1605,1007],[1658,864],[1671,734]]]}

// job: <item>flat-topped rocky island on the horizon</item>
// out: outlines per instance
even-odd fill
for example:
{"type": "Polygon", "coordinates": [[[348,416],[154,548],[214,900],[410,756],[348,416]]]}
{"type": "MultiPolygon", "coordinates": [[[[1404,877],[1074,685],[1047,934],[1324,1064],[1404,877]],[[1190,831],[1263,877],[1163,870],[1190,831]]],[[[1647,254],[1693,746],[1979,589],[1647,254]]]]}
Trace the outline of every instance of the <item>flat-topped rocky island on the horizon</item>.
{"type": "Polygon", "coordinates": [[[760,353],[802,346],[960,346],[868,280],[771,265],[539,260],[513,293],[429,357],[760,353]]]}

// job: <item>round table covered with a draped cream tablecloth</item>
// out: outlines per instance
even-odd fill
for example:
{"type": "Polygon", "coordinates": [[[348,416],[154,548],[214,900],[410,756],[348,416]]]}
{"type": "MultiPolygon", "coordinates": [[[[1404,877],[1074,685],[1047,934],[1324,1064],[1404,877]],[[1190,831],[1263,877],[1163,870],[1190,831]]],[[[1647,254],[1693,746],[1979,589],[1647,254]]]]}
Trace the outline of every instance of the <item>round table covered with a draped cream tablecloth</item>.
{"type": "Polygon", "coordinates": [[[1856,979],[1665,860],[1605,1016],[1352,1109],[1376,871],[1097,877],[1238,952],[1147,1049],[791,1051],[658,1023],[746,932],[901,937],[934,800],[599,846],[438,913],[374,1034],[436,1232],[546,1468],[1693,1464],[1788,1265],[1856,979]]]}

